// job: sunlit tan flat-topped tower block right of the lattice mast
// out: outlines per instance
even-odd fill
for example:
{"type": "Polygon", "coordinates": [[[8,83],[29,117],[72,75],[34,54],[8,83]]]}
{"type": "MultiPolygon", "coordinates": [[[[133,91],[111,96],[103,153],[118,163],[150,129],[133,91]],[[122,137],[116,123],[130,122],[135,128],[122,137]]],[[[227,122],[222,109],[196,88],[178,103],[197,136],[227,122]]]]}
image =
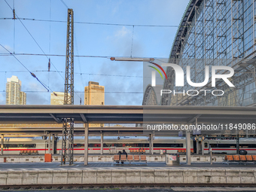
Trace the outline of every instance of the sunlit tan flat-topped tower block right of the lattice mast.
{"type": "MultiPolygon", "coordinates": [[[[98,82],[89,81],[84,87],[84,105],[105,105],[105,87],[98,82]]],[[[90,123],[90,127],[103,126],[102,123],[90,123]]]]}

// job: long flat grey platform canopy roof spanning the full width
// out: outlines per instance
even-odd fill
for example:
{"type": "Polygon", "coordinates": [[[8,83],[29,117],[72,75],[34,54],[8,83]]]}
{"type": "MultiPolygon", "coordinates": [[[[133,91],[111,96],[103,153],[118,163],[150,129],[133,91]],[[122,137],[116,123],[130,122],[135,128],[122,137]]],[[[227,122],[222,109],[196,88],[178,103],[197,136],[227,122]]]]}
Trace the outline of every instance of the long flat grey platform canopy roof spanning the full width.
{"type": "MultiPolygon", "coordinates": [[[[61,133],[62,118],[75,123],[134,123],[133,127],[90,127],[90,133],[143,133],[138,123],[256,123],[255,107],[136,105],[0,105],[0,133],[61,133]],[[59,123],[59,127],[5,127],[5,123],[59,123]]],[[[84,133],[75,127],[75,133],[84,133]]],[[[177,134],[177,133],[176,133],[177,134]]]]}

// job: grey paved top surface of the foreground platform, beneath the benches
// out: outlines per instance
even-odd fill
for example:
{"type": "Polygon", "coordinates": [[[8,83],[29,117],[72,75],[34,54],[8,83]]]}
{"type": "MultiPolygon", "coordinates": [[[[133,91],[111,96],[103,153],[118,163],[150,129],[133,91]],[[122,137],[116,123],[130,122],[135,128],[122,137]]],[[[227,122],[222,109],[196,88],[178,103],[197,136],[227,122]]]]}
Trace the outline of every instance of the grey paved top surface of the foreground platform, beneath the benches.
{"type": "Polygon", "coordinates": [[[166,163],[110,163],[110,162],[89,162],[84,166],[83,162],[77,162],[72,166],[60,165],[60,163],[0,163],[0,171],[16,171],[16,170],[65,170],[65,169],[255,169],[254,164],[237,164],[230,163],[230,165],[222,163],[192,163],[190,166],[182,163],[181,165],[167,166],[166,163]]]}

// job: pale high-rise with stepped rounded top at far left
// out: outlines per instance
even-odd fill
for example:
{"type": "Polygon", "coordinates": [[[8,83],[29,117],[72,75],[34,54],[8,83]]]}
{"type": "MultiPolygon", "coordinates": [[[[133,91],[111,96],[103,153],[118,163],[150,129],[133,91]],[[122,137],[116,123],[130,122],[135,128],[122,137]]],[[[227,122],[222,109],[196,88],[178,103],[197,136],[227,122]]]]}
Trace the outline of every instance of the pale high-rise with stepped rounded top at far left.
{"type": "Polygon", "coordinates": [[[6,105],[26,105],[26,93],[21,92],[21,81],[17,76],[7,78],[6,105]]]}

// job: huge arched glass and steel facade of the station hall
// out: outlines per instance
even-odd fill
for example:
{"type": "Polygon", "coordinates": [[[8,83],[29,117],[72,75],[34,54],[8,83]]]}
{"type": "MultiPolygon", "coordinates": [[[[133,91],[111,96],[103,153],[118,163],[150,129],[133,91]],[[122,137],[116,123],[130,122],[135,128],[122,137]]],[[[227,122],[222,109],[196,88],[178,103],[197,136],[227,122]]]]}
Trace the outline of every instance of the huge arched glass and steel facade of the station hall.
{"type": "MultiPolygon", "coordinates": [[[[190,66],[190,79],[196,83],[204,81],[205,66],[230,66],[235,71],[230,78],[235,87],[227,87],[224,82],[216,84],[215,89],[224,90],[223,96],[163,95],[160,105],[246,106],[256,103],[255,8],[253,0],[190,1],[172,44],[169,62],[181,66],[184,75],[186,67],[190,66]]],[[[169,67],[166,72],[168,80],[163,89],[178,92],[198,89],[190,87],[187,81],[184,87],[175,87],[174,70],[169,67]]],[[[200,89],[212,90],[210,83],[200,89]]]]}

